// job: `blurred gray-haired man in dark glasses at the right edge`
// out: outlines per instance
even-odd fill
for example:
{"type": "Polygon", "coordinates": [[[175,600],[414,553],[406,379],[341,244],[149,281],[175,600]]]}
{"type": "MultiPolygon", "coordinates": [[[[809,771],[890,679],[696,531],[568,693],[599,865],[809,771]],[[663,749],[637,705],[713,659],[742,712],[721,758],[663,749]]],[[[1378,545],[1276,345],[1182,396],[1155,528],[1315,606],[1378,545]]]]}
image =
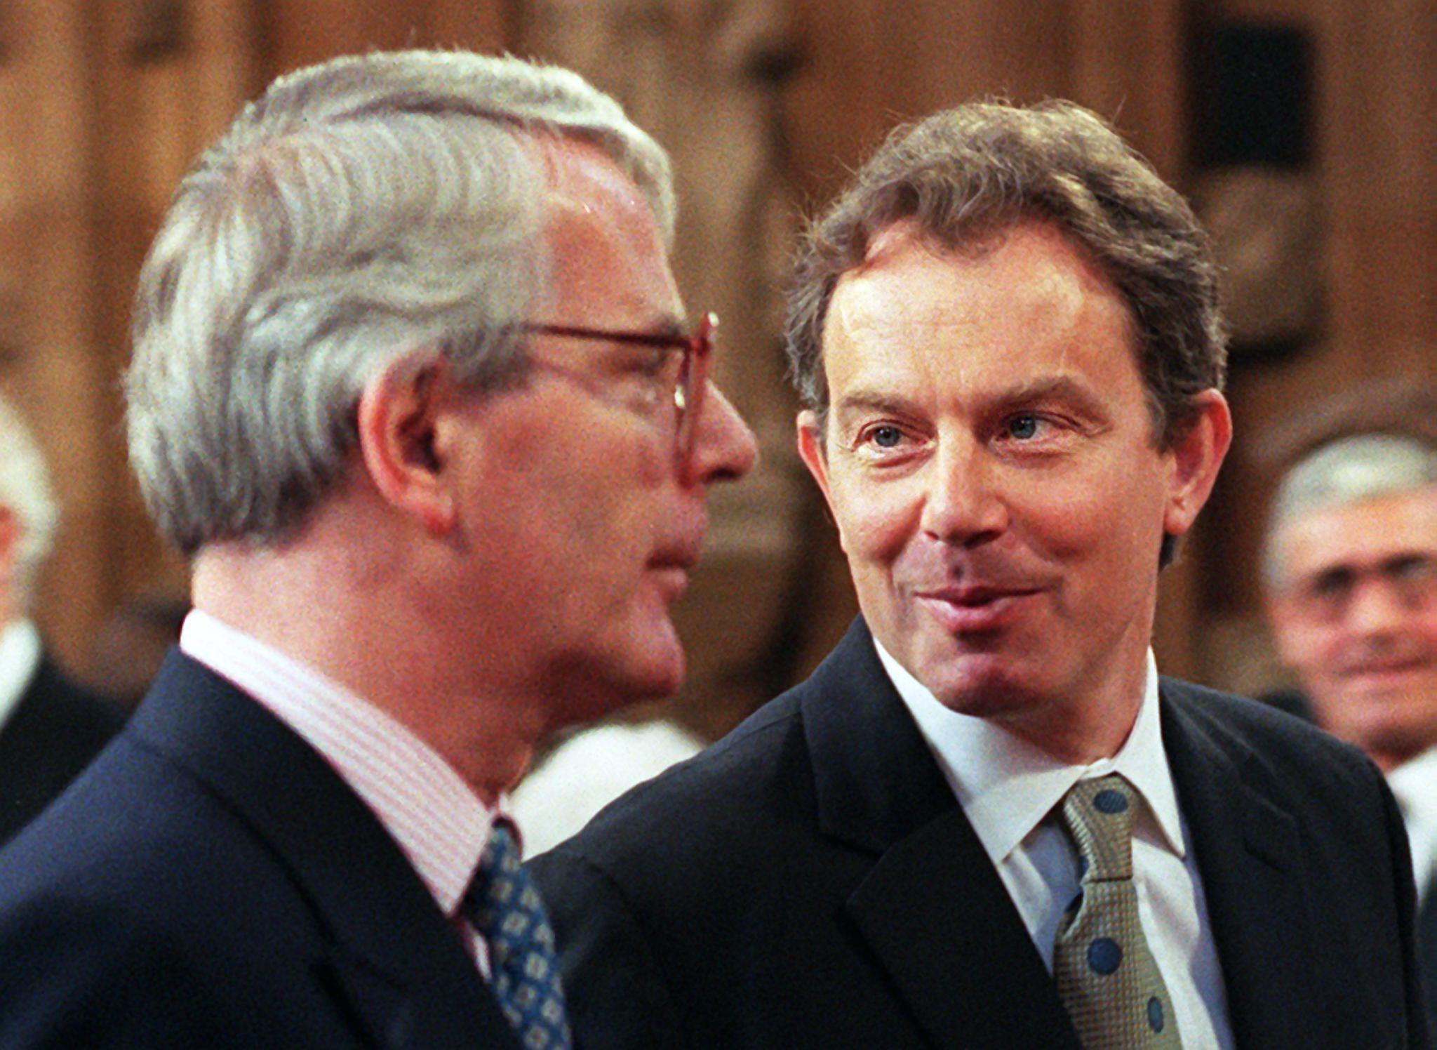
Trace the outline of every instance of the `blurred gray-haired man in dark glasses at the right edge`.
{"type": "Polygon", "coordinates": [[[1323,429],[1339,424],[1336,436],[1306,443],[1273,501],[1263,590],[1277,652],[1302,683],[1276,699],[1387,774],[1411,841],[1434,1003],[1437,396],[1382,384],[1344,400],[1318,413],[1323,429]],[[1388,420],[1364,429],[1371,411],[1388,420]]]}

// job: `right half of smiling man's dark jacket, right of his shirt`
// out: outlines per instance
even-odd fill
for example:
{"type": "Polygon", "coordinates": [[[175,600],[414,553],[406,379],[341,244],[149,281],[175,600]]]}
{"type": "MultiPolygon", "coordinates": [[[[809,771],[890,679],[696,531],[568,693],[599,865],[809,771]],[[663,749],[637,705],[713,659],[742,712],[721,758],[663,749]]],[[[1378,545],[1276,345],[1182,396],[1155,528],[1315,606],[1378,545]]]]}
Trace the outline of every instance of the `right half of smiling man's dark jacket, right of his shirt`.
{"type": "Polygon", "coordinates": [[[1161,695],[1239,1044],[1428,1046],[1411,859],[1377,767],[1266,705],[1161,695]]]}

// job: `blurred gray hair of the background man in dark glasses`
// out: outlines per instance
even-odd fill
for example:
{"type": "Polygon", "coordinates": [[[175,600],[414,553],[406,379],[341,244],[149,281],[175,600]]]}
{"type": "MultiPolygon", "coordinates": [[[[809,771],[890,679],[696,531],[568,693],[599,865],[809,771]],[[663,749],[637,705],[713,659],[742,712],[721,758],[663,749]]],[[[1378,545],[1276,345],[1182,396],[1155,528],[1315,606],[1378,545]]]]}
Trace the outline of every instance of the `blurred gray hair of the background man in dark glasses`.
{"type": "Polygon", "coordinates": [[[1280,534],[1318,511],[1437,489],[1437,447],[1408,434],[1355,434],[1328,442],[1283,475],[1263,545],[1263,583],[1285,585],[1280,534]]]}

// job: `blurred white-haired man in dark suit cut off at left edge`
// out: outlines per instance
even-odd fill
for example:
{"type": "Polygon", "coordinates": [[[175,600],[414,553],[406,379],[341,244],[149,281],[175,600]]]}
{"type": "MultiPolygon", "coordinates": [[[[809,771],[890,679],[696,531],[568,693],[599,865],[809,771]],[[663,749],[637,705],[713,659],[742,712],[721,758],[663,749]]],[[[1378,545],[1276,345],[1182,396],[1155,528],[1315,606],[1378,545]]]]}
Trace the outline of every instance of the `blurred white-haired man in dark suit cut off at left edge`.
{"type": "Polygon", "coordinates": [[[40,447],[0,398],[0,843],[75,780],[122,719],[56,666],[30,618],[57,519],[40,447]]]}

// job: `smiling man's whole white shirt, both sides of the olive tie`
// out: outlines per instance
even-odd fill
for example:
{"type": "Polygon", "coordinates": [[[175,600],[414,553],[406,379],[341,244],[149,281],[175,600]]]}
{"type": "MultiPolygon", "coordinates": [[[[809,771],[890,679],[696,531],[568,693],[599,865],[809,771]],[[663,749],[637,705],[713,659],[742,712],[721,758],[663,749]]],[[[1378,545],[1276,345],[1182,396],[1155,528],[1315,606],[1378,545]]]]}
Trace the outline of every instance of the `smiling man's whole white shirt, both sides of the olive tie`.
{"type": "Polygon", "coordinates": [[[1079,780],[1118,772],[1132,784],[1142,798],[1132,830],[1138,918],[1173,997],[1183,1046],[1232,1047],[1203,880],[1187,849],[1187,826],[1163,749],[1152,653],[1138,718],[1118,754],[1091,765],[1066,765],[986,719],[943,706],[874,644],[1049,972],[1059,921],[1079,883],[1078,850],[1056,807],[1079,780]]]}

